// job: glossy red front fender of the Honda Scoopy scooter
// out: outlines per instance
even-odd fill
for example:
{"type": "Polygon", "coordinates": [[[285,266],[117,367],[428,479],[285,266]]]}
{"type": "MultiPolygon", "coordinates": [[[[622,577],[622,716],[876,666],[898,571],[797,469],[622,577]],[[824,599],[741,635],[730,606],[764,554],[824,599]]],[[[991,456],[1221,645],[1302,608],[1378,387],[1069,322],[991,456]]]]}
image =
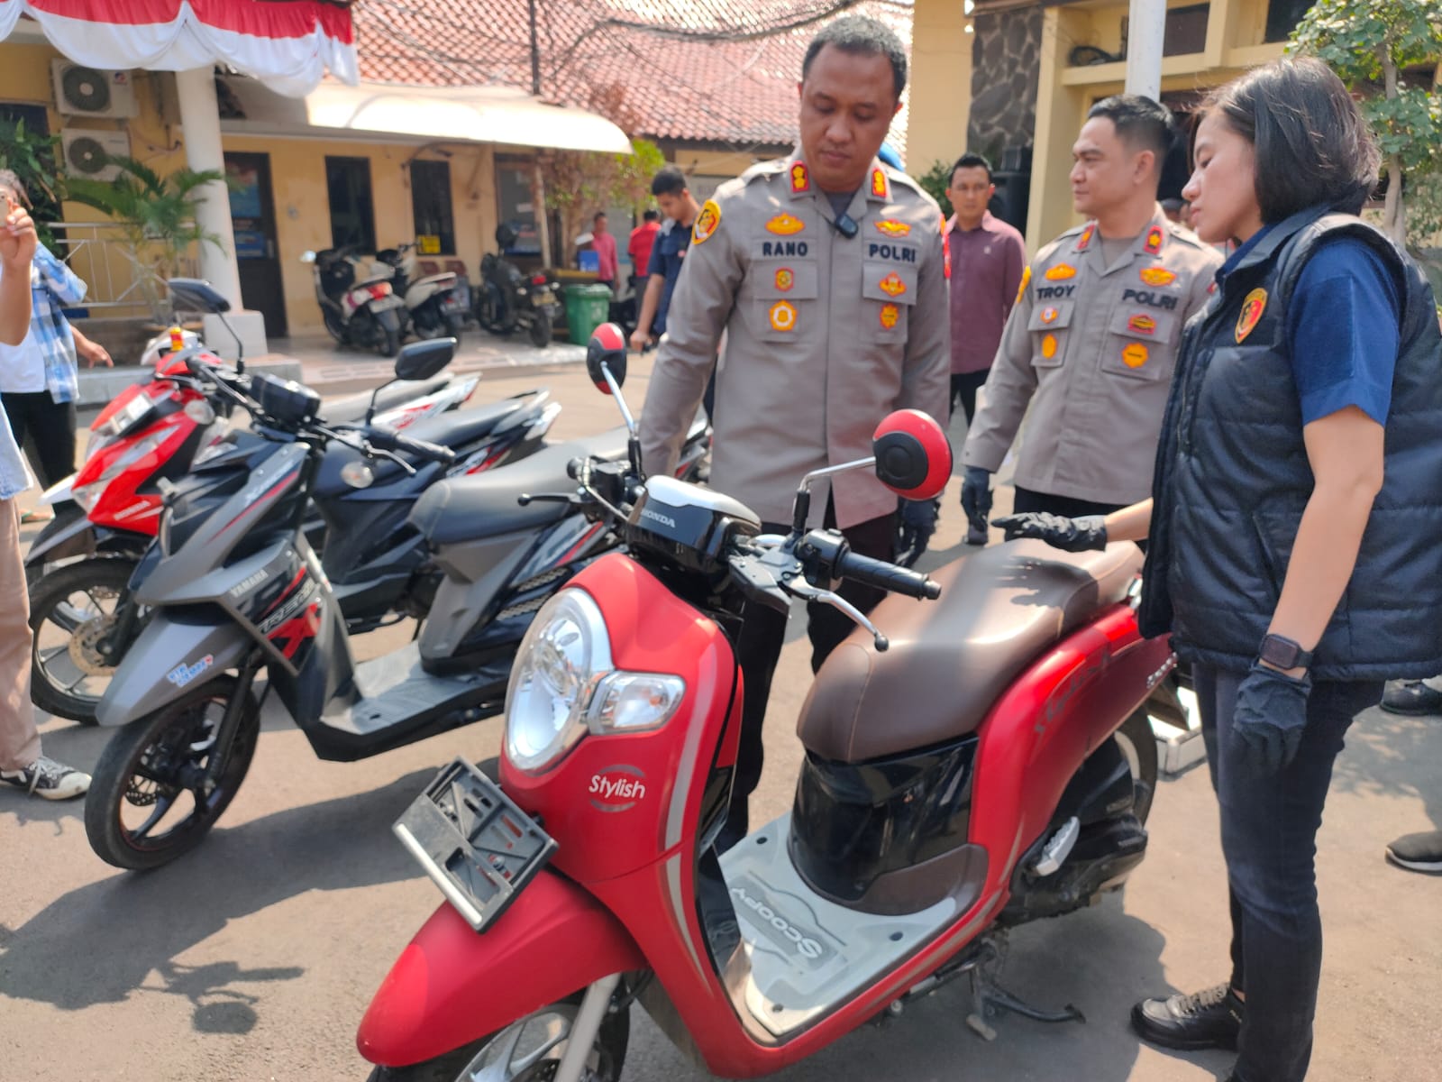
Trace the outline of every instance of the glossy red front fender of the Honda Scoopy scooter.
{"type": "Polygon", "coordinates": [[[421,1063],[601,977],[645,967],[610,910],[542,870],[483,933],[441,905],[386,974],[356,1047],[389,1068],[421,1063]]]}

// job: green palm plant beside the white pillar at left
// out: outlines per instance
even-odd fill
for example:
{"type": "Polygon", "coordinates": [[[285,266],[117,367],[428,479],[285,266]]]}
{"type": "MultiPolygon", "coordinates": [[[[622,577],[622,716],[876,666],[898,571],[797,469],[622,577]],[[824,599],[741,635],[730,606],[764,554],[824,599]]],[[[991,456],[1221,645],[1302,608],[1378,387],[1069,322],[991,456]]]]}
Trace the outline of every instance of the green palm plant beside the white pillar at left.
{"type": "Polygon", "coordinates": [[[164,320],[157,283],[176,277],[180,261],[196,244],[221,247],[221,238],[202,229],[195,208],[205,199],[205,185],[225,183],[218,169],[180,169],[160,176],[133,157],[112,157],[115,180],[71,179],[69,198],[115,219],[130,261],[157,320],[164,320]]]}

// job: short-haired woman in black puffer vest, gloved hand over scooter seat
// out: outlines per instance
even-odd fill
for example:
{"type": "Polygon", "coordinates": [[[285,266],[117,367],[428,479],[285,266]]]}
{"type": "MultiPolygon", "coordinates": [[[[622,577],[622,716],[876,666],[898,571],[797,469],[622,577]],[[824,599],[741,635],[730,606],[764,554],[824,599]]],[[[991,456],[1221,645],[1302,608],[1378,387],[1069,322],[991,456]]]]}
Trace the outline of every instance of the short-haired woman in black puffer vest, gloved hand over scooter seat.
{"type": "Polygon", "coordinates": [[[1377,147],[1341,81],[1280,61],[1204,104],[1184,196],[1236,241],[1188,323],[1152,499],[998,519],[1073,551],[1149,538],[1139,619],[1193,664],[1231,903],[1231,977],[1145,1000],[1233,1082],[1301,1082],[1332,760],[1390,677],[1442,671],[1442,336],[1426,278],[1357,218],[1377,147]]]}

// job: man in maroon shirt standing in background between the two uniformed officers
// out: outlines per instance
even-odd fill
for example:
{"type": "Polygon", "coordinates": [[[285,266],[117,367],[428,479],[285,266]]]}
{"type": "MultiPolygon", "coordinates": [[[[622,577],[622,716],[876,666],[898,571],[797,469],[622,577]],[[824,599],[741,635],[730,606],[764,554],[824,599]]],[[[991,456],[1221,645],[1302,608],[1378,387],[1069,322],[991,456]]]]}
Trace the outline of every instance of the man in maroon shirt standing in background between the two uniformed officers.
{"type": "Polygon", "coordinates": [[[952,413],[960,398],[968,424],[976,414],[976,388],[986,382],[1027,265],[1021,234],[986,209],[995,192],[991,163],[981,154],[963,154],[952,166],[952,185],[946,189],[955,211],[946,222],[952,413]]]}

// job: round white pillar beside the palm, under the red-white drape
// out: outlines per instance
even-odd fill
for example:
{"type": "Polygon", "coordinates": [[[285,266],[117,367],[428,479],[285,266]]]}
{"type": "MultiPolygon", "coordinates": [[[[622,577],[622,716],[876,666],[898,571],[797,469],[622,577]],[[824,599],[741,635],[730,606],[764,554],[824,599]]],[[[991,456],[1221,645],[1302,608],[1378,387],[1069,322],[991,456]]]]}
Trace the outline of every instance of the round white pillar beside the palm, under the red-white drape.
{"type": "MultiPolygon", "coordinates": [[[[176,97],[180,100],[180,127],[185,134],[186,164],[196,172],[216,169],[225,172],[225,150],[221,146],[221,107],[215,100],[215,75],[209,65],[176,72],[176,97]]],[[[231,196],[225,182],[216,180],[200,189],[196,203],[196,224],[221,244],[200,242],[200,277],[231,302],[226,320],[239,335],[245,356],[268,352],[265,320],[258,312],[244,312],[241,300],[241,268],[235,258],[235,229],[231,225],[231,196]]],[[[215,316],[206,316],[206,343],[226,359],[236,359],[235,339],[215,316]]]]}

